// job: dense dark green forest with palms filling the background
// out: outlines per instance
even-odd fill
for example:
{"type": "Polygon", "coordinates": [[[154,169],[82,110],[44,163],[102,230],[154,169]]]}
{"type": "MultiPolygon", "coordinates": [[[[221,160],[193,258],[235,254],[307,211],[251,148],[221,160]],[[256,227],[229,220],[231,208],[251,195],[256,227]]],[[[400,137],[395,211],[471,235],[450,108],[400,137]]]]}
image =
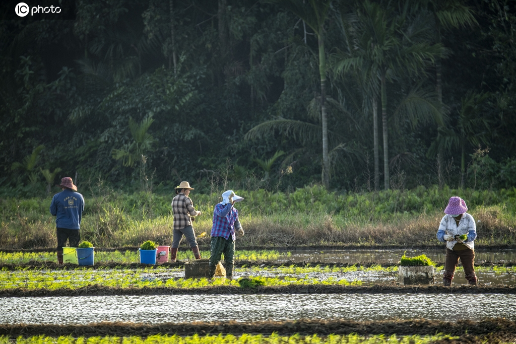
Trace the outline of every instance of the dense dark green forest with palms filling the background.
{"type": "Polygon", "coordinates": [[[516,185],[510,0],[77,0],[0,21],[0,193],[516,185]],[[79,190],[80,191],[80,190],[79,190]]]}

